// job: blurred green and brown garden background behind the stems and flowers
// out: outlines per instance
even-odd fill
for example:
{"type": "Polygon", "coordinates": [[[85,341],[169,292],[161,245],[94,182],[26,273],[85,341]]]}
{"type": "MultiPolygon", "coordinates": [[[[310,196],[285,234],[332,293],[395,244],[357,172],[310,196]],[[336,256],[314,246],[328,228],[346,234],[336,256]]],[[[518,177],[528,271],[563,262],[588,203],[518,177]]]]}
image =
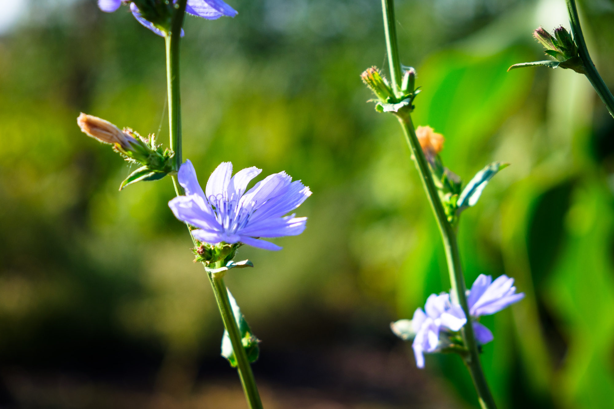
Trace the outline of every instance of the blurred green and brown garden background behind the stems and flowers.
{"type": "MultiPolygon", "coordinates": [[[[457,356],[415,368],[389,323],[449,289],[437,227],[394,118],[359,74],[386,71],[377,0],[228,0],[188,17],[184,156],[286,170],[314,194],[308,228],[243,247],[227,284],[261,338],[265,407],[475,408],[457,356]]],[[[614,85],[614,2],[579,2],[614,85]]],[[[171,181],[118,192],[131,171],[80,133],[79,112],[168,138],[164,42],[127,7],[0,0],[0,407],[244,408],[219,356],[222,323],[171,181]]],[[[585,77],[542,60],[538,25],[563,0],[398,0],[414,122],[446,137],[465,181],[497,175],[460,224],[468,283],[516,278],[527,297],[483,322],[501,408],[614,407],[614,119],[585,77]]]]}

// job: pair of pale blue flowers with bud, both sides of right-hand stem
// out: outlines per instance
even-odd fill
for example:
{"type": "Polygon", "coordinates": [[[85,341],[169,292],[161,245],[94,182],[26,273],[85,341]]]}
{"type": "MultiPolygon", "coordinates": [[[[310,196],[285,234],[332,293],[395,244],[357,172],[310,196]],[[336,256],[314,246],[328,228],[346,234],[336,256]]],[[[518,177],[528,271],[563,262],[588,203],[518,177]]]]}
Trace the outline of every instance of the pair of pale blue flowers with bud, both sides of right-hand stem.
{"type": "MultiPolygon", "coordinates": [[[[494,338],[491,330],[480,324],[478,319],[497,313],[524,297],[524,293],[516,294],[513,284],[514,279],[506,275],[492,281],[491,276],[481,274],[467,290],[467,305],[478,344],[484,345],[494,338]]],[[[403,340],[413,338],[416,365],[424,368],[425,353],[464,350],[459,331],[466,323],[467,317],[461,306],[451,302],[450,295],[444,293],[431,294],[424,310],[418,308],[411,320],[393,322],[391,328],[403,340]]]]}

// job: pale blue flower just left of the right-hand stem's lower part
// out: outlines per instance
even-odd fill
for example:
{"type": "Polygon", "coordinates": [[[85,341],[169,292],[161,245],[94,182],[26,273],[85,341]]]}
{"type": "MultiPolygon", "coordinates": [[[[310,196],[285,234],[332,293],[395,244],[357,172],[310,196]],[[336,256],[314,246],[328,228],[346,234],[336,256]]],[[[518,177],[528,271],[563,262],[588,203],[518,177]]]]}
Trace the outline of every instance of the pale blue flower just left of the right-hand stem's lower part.
{"type": "Polygon", "coordinates": [[[460,305],[450,302],[450,295],[431,294],[422,308],[414,312],[411,327],[416,333],[411,345],[416,356],[416,366],[424,368],[424,353],[433,353],[439,348],[441,330],[458,331],[467,322],[460,305]],[[424,312],[426,311],[426,313],[424,312]]]}

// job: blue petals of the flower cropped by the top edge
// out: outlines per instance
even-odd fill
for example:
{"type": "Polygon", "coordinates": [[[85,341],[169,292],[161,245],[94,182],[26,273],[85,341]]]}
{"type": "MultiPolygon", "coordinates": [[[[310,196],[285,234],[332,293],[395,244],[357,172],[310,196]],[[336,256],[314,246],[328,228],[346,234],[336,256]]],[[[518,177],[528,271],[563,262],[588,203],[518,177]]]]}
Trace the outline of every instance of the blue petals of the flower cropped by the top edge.
{"type": "MultiPolygon", "coordinates": [[[[176,1],[177,0],[174,0],[174,2],[176,1]]],[[[161,29],[157,28],[155,25],[153,25],[153,23],[142,17],[141,12],[139,12],[139,8],[130,0],[98,0],[98,7],[99,9],[103,10],[103,12],[112,13],[122,6],[122,2],[130,2],[130,11],[132,12],[134,18],[139,21],[139,23],[149,28],[151,31],[153,31],[153,33],[158,34],[158,36],[164,36],[161,29]]],[[[228,6],[228,4],[222,0],[187,0],[185,12],[195,15],[196,17],[206,18],[208,20],[216,20],[223,15],[235,17],[235,15],[238,14],[235,9],[228,6]]],[[[181,33],[183,36],[183,30],[181,33]]]]}

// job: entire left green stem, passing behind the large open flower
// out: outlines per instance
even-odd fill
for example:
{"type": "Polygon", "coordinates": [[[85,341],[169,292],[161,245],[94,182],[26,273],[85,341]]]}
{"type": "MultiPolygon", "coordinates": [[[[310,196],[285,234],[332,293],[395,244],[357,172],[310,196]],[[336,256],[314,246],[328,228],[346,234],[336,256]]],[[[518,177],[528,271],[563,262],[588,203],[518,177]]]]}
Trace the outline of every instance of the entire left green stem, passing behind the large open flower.
{"type": "MultiPolygon", "coordinates": [[[[181,166],[181,94],[179,88],[179,45],[181,42],[181,28],[184,23],[185,4],[187,0],[179,0],[178,9],[173,15],[171,31],[166,34],[166,85],[168,90],[168,124],[170,146],[174,152],[173,169],[179,170],[181,166]]],[[[179,185],[177,174],[171,174],[173,185],[177,196],[184,194],[184,189],[179,185]]],[[[190,229],[188,228],[188,232],[190,229]]],[[[190,232],[190,237],[194,244],[196,241],[190,232]]],[[[216,267],[221,267],[217,265],[216,267]]],[[[214,267],[214,268],[216,268],[214,267]]],[[[209,281],[214,294],[216,295],[217,308],[222,316],[225,329],[228,331],[235,357],[238,362],[237,371],[245,397],[250,409],[262,409],[262,402],[258,394],[258,388],[254,379],[251,365],[247,359],[247,354],[241,342],[239,328],[233,315],[228,293],[221,276],[213,275],[208,272],[209,281]]]]}

